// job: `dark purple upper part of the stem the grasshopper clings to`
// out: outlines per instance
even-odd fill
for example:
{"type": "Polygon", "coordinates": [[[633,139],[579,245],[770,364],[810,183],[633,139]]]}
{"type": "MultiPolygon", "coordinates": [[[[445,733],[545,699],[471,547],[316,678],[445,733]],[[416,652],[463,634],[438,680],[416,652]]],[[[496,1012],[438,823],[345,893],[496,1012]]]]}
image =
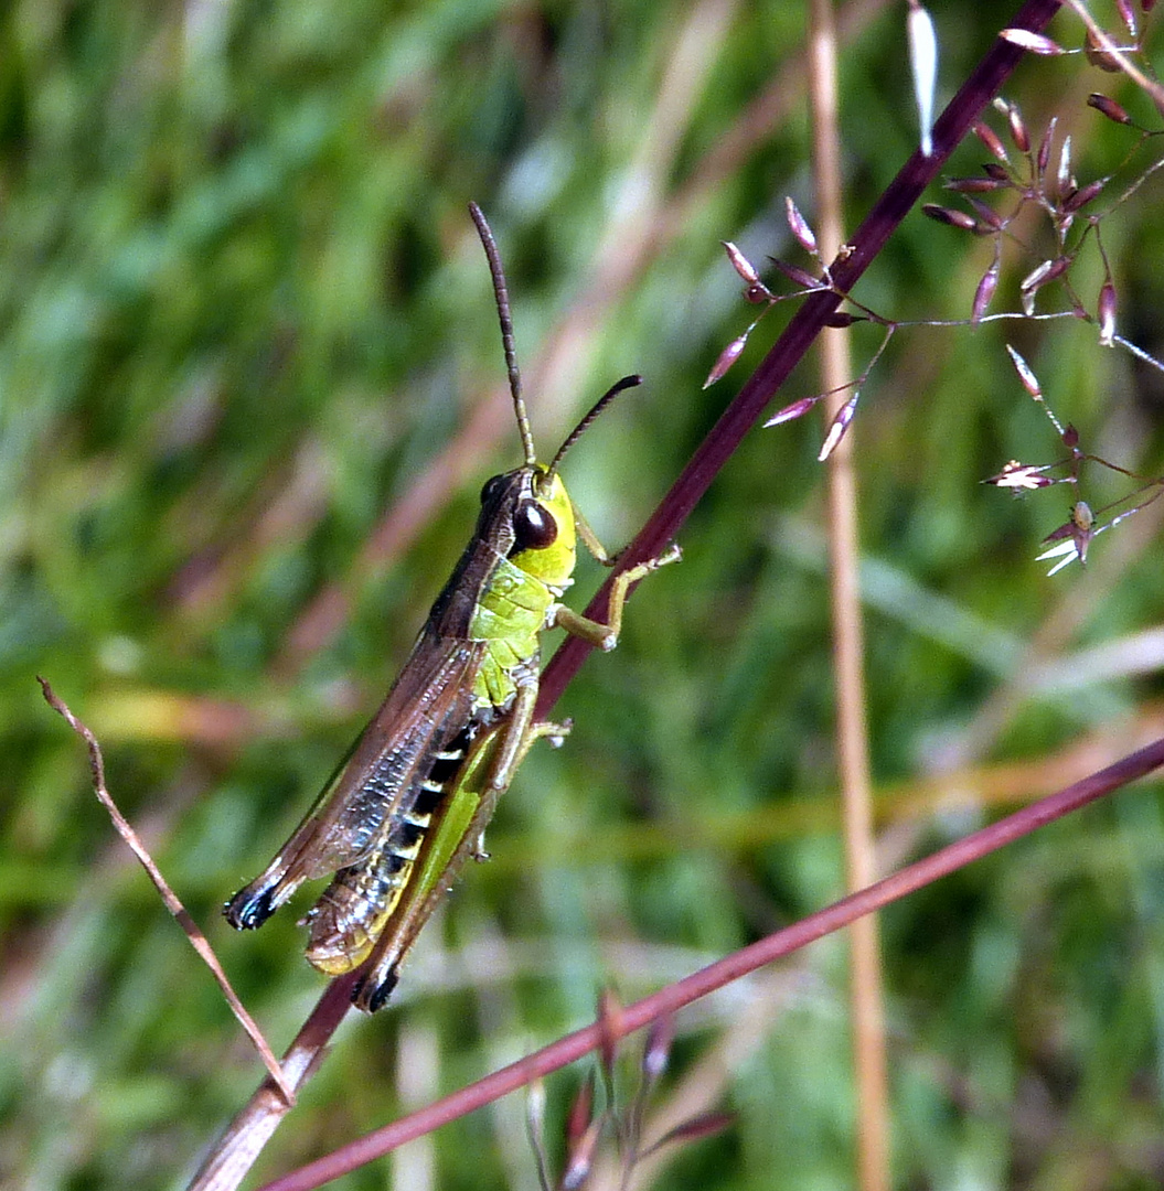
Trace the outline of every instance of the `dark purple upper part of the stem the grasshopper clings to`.
{"type": "MultiPolygon", "coordinates": [[[[1010,21],[1010,27],[1038,32],[1058,10],[1058,0],[1028,0],[1010,21]]],[[[933,130],[933,154],[926,157],[919,150],[905,162],[851,238],[848,251],[833,262],[830,273],[836,291],[840,293],[852,291],[885,241],[921,198],[926,187],[934,181],[946,158],[1012,74],[1023,52],[1009,42],[994,43],[938,118],[933,130]]],[[[813,345],[824,320],[836,310],[840,300],[838,293],[828,289],[818,291],[804,299],[771,351],[691,456],[691,461],[639,536],[623,551],[616,573],[645,559],[656,556],[674,540],[720,469],[813,345]]],[[[595,619],[605,617],[612,579],[614,575],[603,584],[598,594],[591,600],[586,616],[595,619]]],[[[591,648],[578,637],[567,637],[554,654],[541,680],[539,717],[546,718],[549,715],[591,648]]]]}

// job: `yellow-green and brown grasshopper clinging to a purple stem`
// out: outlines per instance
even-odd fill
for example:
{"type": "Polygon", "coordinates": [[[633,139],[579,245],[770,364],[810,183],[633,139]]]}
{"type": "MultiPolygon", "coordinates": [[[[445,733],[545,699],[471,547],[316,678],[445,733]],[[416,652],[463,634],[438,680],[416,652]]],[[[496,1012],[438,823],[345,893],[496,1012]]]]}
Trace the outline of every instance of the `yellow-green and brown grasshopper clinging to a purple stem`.
{"type": "Polygon", "coordinates": [[[559,603],[580,537],[616,561],[574,509],[558,468],[602,410],[639,376],[617,381],[567,436],[549,467],[537,462],[513,347],[500,256],[469,204],[493,278],[510,392],[525,462],[481,490],[477,529],[379,711],[263,872],[223,908],[238,930],[262,925],[305,880],[335,874],[307,913],[306,958],[342,975],[363,966],[359,1009],[385,1004],[421,928],[481,838],[530,744],[560,742],[568,724],[534,719],[540,636],[560,628],[614,649],[629,586],[679,559],[678,547],[622,572],[606,623],[559,603]]]}

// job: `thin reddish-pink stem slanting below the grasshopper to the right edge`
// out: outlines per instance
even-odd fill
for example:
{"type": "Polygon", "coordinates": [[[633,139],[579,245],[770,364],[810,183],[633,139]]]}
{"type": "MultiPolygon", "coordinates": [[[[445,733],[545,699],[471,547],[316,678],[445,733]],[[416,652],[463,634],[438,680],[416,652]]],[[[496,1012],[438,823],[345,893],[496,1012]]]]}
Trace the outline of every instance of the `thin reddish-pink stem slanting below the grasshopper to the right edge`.
{"type": "MultiPolygon", "coordinates": [[[[622,1033],[630,1034],[664,1015],[672,1015],[692,1000],[705,997],[709,992],[722,989],[765,964],[782,959],[834,930],[849,925],[863,915],[880,910],[925,885],[948,877],[971,861],[1079,810],[1081,806],[1126,786],[1137,778],[1143,778],[1160,766],[1164,766],[1164,738],[1132,753],[1098,773],[1076,781],[1058,793],[948,844],[932,856],[877,881],[876,885],[834,902],[808,918],[802,918],[791,927],[778,930],[774,935],[768,935],[751,947],[745,947],[677,984],[625,1006],[620,1015],[622,1033]]],[[[310,1191],[312,1187],[322,1186],[330,1179],[340,1178],[341,1174],[382,1158],[413,1137],[430,1133],[438,1125],[483,1108],[524,1084],[580,1059],[604,1041],[608,1045],[610,1042],[609,1023],[587,1025],[586,1029],[568,1034],[544,1049],[486,1075],[477,1084],[462,1087],[411,1116],[393,1121],[325,1158],[266,1184],[260,1191],[310,1191]]]]}

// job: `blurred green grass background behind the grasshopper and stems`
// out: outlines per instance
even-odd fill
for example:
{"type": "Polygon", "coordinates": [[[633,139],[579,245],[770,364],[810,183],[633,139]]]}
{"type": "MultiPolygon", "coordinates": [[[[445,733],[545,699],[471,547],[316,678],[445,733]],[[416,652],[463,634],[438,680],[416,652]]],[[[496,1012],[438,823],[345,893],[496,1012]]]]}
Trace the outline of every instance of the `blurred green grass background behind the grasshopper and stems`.
{"type": "MultiPolygon", "coordinates": [[[[901,12],[865,10],[841,68],[854,224],[915,141],[901,12]]],[[[945,87],[1008,13],[935,6],[945,87]]],[[[179,1185],[259,1072],[33,675],[99,732],[123,810],[284,1045],[322,987],[295,915],[235,937],[218,905],[375,705],[481,481],[518,459],[467,200],[500,241],[543,450],[614,379],[647,378],[566,468],[618,544],[783,317],[701,389],[752,313],[718,241],[807,263],[783,222],[785,194],[814,206],[803,20],[772,0],[36,0],[0,15],[6,1185],[179,1185]],[[760,96],[770,116],[746,131],[760,96]],[[307,617],[325,593],[335,632],[307,617]]],[[[1089,179],[1131,144],[1083,104],[1115,86],[1067,58],[1026,64],[1009,94],[1037,135],[1059,118],[1089,179]]],[[[950,173],[983,157],[965,145],[950,173]]],[[[1153,179],[1103,223],[1120,326],[1157,355],[1159,201],[1153,179]]],[[[989,260],[915,214],[860,297],[964,318],[989,260]]],[[[995,308],[1016,308],[1037,260],[1008,252],[995,308]]],[[[1094,300],[1097,258],[1075,276],[1094,300]]],[[[1162,470],[1158,375],[1093,328],[896,337],[855,429],[888,863],[990,812],[976,767],[1027,762],[989,796],[1021,800],[1070,780],[1040,777],[1060,749],[1118,755],[1164,717],[1158,644],[1122,667],[1081,653],[1158,632],[1159,511],[1101,538],[1087,573],[1047,580],[1033,556],[1065,516],[1058,490],[1013,501],[979,484],[1057,455],[1006,339],[1087,449],[1162,470]],[[971,797],[919,804],[927,775],[971,797]]],[[[877,342],[858,329],[854,358],[877,342]]],[[[805,367],[786,399],[815,388],[805,367]]],[[[341,1031],[262,1171],[591,1019],[606,984],[634,998],[839,894],[818,442],[811,418],[757,431],[717,479],[683,566],[567,692],[574,734],[529,757],[493,862],[430,928],[397,1008],[341,1031]]],[[[1160,810],[1145,784],[884,916],[898,1186],[1164,1180],[1160,810]]],[[[741,1029],[760,987],[680,1018],[670,1081],[741,1029]]],[[[746,1061],[709,1089],[735,1127],[679,1151],[660,1186],[849,1185],[842,948],[798,956],[779,987],[746,1061]]],[[[549,1081],[552,1121],[578,1078],[549,1081]]],[[[437,1185],[534,1185],[518,1100],[435,1135],[437,1185]]],[[[342,1185],[381,1186],[382,1166],[342,1185]]]]}

